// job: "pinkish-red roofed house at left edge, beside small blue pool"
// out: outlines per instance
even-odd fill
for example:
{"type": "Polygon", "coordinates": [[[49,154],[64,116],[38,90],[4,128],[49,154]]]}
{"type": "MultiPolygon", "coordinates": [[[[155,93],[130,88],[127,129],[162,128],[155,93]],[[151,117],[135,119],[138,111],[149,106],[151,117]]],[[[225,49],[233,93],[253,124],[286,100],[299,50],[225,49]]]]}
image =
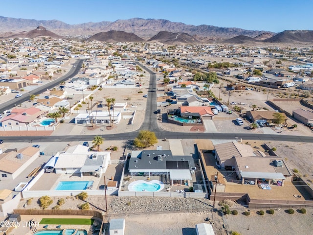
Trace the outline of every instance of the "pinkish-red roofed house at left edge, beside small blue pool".
{"type": "Polygon", "coordinates": [[[2,126],[29,126],[32,122],[37,122],[42,118],[47,111],[39,108],[31,107],[28,109],[14,108],[11,115],[5,116],[1,119],[2,126]]]}

